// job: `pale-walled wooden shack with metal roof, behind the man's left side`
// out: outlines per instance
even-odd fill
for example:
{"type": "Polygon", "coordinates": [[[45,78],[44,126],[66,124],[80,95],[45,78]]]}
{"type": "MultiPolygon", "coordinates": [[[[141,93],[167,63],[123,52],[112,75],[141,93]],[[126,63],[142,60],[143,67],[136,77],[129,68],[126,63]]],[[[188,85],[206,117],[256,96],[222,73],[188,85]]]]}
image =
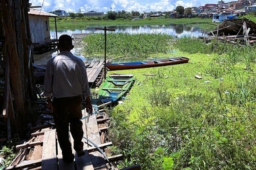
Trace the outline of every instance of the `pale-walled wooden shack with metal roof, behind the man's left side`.
{"type": "Polygon", "coordinates": [[[57,30],[56,18],[58,16],[42,10],[30,9],[28,19],[30,23],[30,35],[34,52],[46,52],[56,48],[57,30]],[[51,37],[49,18],[55,19],[55,36],[51,37]]]}

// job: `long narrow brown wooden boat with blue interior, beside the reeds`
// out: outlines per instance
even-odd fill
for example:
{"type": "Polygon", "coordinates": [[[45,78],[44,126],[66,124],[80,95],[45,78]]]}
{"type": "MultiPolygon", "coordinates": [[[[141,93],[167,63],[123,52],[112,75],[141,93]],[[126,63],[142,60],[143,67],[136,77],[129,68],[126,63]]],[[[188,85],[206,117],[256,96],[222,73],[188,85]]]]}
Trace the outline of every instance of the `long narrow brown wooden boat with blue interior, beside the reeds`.
{"type": "Polygon", "coordinates": [[[142,69],[148,67],[160,67],[165,65],[174,65],[179,63],[187,63],[188,58],[177,57],[177,58],[165,58],[165,59],[154,59],[148,61],[131,61],[124,63],[106,63],[106,67],[110,71],[123,70],[123,69],[142,69]]]}

